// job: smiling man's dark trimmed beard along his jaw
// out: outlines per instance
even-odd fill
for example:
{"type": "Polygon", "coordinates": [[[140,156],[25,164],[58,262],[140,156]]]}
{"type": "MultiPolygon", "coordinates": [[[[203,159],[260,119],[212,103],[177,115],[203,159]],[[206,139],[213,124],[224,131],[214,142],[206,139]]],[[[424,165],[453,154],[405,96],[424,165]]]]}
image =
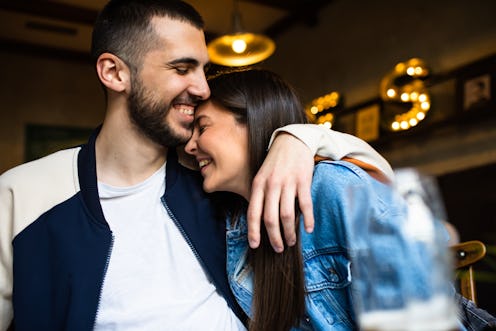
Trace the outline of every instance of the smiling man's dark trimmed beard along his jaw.
{"type": "Polygon", "coordinates": [[[152,100],[140,81],[133,80],[128,104],[133,123],[155,143],[164,147],[176,147],[188,141],[189,137],[174,132],[165,120],[172,103],[162,105],[152,100]]]}

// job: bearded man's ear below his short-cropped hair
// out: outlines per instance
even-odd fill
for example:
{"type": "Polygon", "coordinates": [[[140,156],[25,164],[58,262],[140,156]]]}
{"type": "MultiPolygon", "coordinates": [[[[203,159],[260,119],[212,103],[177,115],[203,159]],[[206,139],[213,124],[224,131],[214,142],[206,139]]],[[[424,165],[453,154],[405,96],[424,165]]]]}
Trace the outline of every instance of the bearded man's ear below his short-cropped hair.
{"type": "Polygon", "coordinates": [[[129,67],[119,57],[103,53],[96,61],[98,78],[109,90],[129,91],[131,86],[129,67]]]}

